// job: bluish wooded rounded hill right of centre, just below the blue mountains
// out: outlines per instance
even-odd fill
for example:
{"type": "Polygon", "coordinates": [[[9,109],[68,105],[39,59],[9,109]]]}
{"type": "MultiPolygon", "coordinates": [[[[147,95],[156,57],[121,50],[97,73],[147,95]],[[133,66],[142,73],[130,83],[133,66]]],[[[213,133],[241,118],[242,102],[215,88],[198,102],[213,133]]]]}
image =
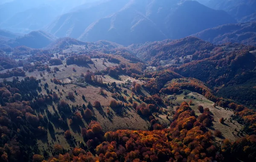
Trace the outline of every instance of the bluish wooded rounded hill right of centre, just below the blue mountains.
{"type": "MultiPolygon", "coordinates": [[[[197,55],[193,60],[200,60],[211,56],[210,51],[214,49],[211,43],[199,38],[187,37],[180,40],[163,40],[134,47],[134,53],[144,61],[149,61],[151,65],[160,65],[161,60],[175,60],[188,55],[197,55]]],[[[178,64],[178,62],[176,62],[178,64]]]]}

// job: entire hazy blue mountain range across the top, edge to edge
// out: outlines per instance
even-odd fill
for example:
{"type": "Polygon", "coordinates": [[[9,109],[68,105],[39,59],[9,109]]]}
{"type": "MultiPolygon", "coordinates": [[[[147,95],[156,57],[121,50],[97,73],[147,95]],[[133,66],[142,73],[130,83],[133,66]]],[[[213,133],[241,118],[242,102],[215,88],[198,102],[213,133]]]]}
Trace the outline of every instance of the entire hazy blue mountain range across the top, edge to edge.
{"type": "Polygon", "coordinates": [[[23,33],[19,36],[27,34],[16,40],[0,35],[1,46],[43,48],[64,37],[128,46],[189,35],[214,44],[255,45],[253,0],[198,1],[76,0],[71,4],[38,0],[32,4],[30,0],[12,0],[0,5],[0,13],[6,15],[0,18],[0,28],[23,33]],[[21,7],[16,9],[18,5],[21,7]],[[250,6],[247,12],[241,10],[244,6],[250,6]]]}

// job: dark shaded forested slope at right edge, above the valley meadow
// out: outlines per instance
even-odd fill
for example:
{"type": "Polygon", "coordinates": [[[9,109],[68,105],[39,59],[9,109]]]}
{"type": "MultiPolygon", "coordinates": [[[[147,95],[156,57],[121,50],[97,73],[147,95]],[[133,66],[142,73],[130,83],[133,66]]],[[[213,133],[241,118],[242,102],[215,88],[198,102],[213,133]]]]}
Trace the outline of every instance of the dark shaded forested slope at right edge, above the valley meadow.
{"type": "MultiPolygon", "coordinates": [[[[235,47],[227,45],[227,48],[235,47]]],[[[185,77],[197,78],[211,86],[241,84],[256,77],[253,71],[256,67],[256,58],[247,47],[231,52],[216,47],[212,52],[214,55],[210,58],[193,61],[173,70],[185,77]]]]}

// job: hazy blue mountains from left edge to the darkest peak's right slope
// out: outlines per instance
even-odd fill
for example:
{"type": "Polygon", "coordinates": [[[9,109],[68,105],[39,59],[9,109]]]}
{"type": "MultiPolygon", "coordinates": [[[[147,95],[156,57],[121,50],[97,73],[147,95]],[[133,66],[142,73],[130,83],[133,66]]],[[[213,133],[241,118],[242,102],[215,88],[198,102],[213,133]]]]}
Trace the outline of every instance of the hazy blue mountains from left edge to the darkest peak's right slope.
{"type": "Polygon", "coordinates": [[[183,38],[204,29],[236,23],[224,11],[183,0],[13,0],[0,5],[0,28],[28,33],[43,29],[56,37],[109,40],[122,45],[183,38]],[[82,5],[78,5],[82,4],[82,5]],[[22,5],[16,9],[15,6],[22,5]],[[111,7],[110,7],[111,6],[111,7]],[[100,12],[99,12],[100,11],[100,12]]]}

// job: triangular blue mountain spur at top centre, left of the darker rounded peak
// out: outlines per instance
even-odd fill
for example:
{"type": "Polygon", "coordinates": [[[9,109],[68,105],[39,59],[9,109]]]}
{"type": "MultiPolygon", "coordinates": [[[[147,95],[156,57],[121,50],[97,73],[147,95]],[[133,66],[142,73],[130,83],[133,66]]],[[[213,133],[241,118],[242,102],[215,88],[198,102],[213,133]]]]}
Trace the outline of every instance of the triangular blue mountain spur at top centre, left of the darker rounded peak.
{"type": "Polygon", "coordinates": [[[157,25],[145,17],[143,9],[143,1],[130,3],[119,12],[88,26],[79,39],[110,40],[124,45],[166,39],[167,36],[157,25]]]}

